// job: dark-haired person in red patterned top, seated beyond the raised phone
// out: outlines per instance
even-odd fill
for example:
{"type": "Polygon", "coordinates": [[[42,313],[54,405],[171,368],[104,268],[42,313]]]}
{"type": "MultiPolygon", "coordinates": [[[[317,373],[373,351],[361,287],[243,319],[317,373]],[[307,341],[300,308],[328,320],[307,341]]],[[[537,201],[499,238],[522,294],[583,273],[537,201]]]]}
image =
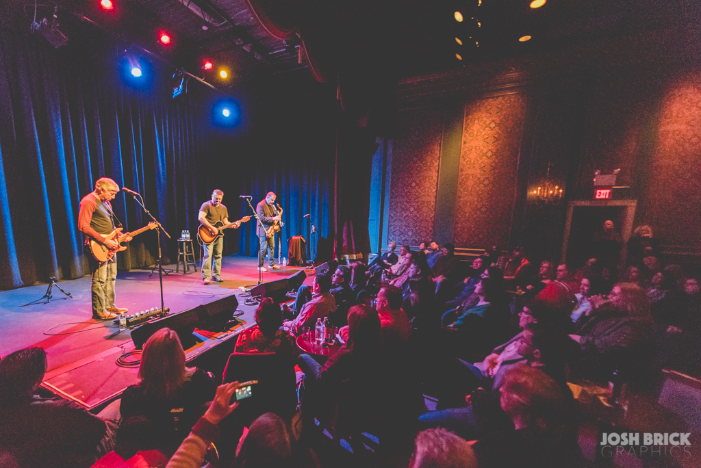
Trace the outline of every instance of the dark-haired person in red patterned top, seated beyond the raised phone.
{"type": "Polygon", "coordinates": [[[273,298],[264,297],[256,309],[256,324],[238,334],[235,352],[264,353],[276,352],[299,355],[299,348],[289,332],[280,330],[283,326],[283,312],[273,298]]]}

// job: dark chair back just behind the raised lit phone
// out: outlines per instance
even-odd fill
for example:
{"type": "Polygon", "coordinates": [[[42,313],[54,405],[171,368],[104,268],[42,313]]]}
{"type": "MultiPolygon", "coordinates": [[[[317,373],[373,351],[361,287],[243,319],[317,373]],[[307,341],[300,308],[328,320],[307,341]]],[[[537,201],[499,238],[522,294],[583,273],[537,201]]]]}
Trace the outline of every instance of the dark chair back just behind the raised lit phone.
{"type": "Polygon", "coordinates": [[[297,382],[294,362],[290,356],[274,352],[234,352],[224,369],[223,383],[258,380],[253,396],[241,401],[240,412],[250,421],[263,413],[275,413],[287,418],[297,408],[297,382]]]}

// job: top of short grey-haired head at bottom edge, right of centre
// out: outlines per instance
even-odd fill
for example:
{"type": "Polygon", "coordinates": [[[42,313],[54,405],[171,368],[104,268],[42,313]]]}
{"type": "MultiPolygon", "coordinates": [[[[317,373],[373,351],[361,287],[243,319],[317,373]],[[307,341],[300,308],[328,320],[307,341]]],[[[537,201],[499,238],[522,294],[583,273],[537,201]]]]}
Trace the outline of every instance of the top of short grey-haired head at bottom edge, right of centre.
{"type": "Polygon", "coordinates": [[[442,427],[419,432],[414,447],[409,468],[477,468],[470,443],[442,427]]]}

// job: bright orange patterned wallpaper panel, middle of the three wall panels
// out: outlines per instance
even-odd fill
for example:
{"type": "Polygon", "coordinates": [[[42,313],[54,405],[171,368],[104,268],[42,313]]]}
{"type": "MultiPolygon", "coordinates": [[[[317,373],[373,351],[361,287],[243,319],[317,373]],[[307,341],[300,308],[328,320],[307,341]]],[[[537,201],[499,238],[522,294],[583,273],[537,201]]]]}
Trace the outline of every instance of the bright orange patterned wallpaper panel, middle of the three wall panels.
{"type": "Polygon", "coordinates": [[[508,245],[525,113],[522,95],[465,106],[456,247],[508,245]]]}

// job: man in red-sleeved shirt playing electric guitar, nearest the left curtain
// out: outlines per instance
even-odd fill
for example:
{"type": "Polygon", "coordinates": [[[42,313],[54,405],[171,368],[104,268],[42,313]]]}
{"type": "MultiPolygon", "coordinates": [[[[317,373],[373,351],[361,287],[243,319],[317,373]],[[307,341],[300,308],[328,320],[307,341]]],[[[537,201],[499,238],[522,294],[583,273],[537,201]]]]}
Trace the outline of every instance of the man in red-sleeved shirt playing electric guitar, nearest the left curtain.
{"type": "MultiPolygon", "coordinates": [[[[106,239],[115,229],[116,220],[110,200],[114,200],[119,191],[119,186],[112,179],[102,177],[95,182],[95,191],[88,193],[81,200],[78,214],[78,230],[88,238],[99,242],[108,249],[116,249],[115,240],[106,239]]],[[[116,220],[118,224],[118,220],[116,220]]],[[[86,239],[87,240],[87,239],[86,239]]],[[[125,242],[132,240],[131,237],[125,242]]],[[[125,308],[114,305],[114,282],[117,277],[116,256],[102,263],[95,260],[92,254],[88,254],[90,274],[93,280],[90,285],[90,295],[93,298],[93,318],[96,320],[111,320],[118,314],[127,312],[125,308]]]]}

